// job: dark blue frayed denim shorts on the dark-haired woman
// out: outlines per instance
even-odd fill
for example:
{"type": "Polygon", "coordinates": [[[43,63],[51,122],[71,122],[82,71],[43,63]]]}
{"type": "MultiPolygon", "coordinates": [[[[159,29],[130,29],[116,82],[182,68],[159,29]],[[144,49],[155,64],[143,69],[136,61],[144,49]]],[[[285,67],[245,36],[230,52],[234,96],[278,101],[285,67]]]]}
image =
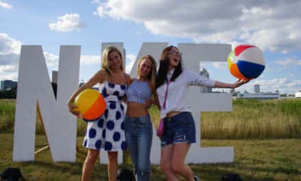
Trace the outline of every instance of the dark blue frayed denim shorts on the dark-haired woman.
{"type": "Polygon", "coordinates": [[[174,117],[164,118],[161,147],[174,143],[196,143],[196,125],[191,112],[181,112],[174,117]]]}

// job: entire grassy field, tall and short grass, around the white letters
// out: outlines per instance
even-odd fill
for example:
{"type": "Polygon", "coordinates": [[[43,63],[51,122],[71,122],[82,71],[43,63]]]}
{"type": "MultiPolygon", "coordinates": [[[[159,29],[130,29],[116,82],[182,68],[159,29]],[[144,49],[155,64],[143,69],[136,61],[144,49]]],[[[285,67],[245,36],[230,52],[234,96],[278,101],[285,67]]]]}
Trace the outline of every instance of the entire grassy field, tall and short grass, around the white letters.
{"type": "MultiPolygon", "coordinates": [[[[159,110],[149,111],[156,126],[159,110]]],[[[0,172],[18,167],[26,180],[80,180],[86,122],[77,120],[76,162],[53,162],[49,149],[35,154],[34,162],[12,162],[14,112],[15,100],[0,99],[0,172]]],[[[244,180],[301,180],[301,99],[237,99],[232,112],[201,112],[200,117],[202,147],[235,150],[234,162],[191,165],[201,180],[220,180],[226,173],[238,173],[244,180]]],[[[38,117],[36,134],[37,150],[47,144],[38,117]]],[[[132,169],[130,160],[120,167],[132,169]]],[[[108,180],[106,165],[96,164],[90,180],[108,180]]],[[[152,180],[166,180],[158,165],[152,166],[152,180]]]]}

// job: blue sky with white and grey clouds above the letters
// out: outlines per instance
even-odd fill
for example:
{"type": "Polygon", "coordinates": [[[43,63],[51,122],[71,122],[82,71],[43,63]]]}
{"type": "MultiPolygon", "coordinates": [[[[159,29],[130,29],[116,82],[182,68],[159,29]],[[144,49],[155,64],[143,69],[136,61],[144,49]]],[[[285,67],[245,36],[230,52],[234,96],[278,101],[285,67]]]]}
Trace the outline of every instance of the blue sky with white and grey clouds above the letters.
{"type": "MultiPolygon", "coordinates": [[[[295,93],[300,7],[301,1],[0,0],[0,80],[18,80],[21,45],[42,45],[49,72],[57,70],[60,45],[81,45],[79,79],[86,81],[100,67],[105,42],[124,43],[127,71],[143,42],[250,44],[263,50],[267,67],[237,90],[252,93],[260,84],[263,92],[295,93]]],[[[235,82],[226,63],[202,68],[212,79],[235,82]]]]}

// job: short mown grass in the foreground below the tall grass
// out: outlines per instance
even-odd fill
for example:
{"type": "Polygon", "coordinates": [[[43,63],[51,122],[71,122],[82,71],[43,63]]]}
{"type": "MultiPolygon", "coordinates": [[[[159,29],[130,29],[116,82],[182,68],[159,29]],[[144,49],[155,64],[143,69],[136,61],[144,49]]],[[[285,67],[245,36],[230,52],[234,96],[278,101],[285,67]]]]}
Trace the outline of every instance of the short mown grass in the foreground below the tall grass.
{"type": "MultiPolygon", "coordinates": [[[[12,162],[12,134],[0,134],[0,171],[18,167],[27,180],[80,180],[87,149],[77,138],[76,162],[53,162],[49,149],[35,155],[34,162],[12,162]]],[[[36,136],[36,149],[44,145],[44,135],[36,136]]],[[[220,180],[225,173],[238,173],[244,180],[301,180],[301,139],[202,140],[202,147],[234,146],[234,162],[191,165],[201,180],[220,180]]],[[[154,146],[154,145],[153,145],[154,146]]],[[[99,160],[97,160],[99,162],[99,160]]],[[[131,165],[120,165],[131,168],[131,165]]],[[[165,180],[158,165],[152,166],[152,180],[165,180]]],[[[96,164],[91,180],[107,180],[107,166],[96,164]]]]}

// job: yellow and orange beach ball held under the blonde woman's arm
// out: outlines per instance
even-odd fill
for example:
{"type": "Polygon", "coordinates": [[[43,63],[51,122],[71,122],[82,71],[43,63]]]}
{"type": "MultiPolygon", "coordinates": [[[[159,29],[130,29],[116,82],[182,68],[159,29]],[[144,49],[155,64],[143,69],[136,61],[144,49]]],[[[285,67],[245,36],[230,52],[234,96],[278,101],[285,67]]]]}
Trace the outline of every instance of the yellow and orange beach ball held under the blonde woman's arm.
{"type": "Polygon", "coordinates": [[[105,99],[99,91],[87,88],[77,95],[75,106],[81,113],[83,121],[96,121],[105,112],[105,99]]]}

